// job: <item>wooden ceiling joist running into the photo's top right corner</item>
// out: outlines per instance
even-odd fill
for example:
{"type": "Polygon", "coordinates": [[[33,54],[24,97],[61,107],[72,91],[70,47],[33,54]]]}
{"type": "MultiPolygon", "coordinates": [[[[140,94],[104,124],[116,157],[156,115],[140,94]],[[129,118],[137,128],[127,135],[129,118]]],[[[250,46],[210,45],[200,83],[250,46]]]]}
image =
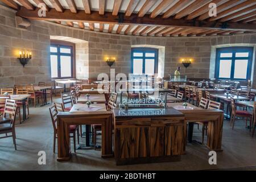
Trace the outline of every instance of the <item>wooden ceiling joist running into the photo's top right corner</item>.
{"type": "Polygon", "coordinates": [[[236,13],[236,12],[238,12],[240,10],[246,9],[247,7],[250,7],[250,6],[253,6],[253,5],[256,5],[256,1],[255,0],[245,1],[243,3],[240,3],[237,6],[234,6],[234,7],[230,8],[230,9],[228,9],[228,10],[222,11],[221,13],[218,13],[217,16],[210,18],[209,21],[212,22],[212,21],[224,18],[225,16],[228,16],[230,14],[236,13]]]}

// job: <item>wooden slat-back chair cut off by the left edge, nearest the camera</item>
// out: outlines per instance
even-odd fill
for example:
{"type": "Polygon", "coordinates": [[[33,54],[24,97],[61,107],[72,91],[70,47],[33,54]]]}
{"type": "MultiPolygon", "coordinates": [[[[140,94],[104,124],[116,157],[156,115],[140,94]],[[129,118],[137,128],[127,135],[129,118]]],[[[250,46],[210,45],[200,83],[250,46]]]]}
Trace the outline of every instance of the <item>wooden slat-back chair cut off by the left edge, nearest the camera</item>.
{"type": "Polygon", "coordinates": [[[4,137],[13,137],[13,144],[16,147],[16,133],[15,133],[15,119],[16,119],[17,105],[14,100],[6,100],[5,109],[3,111],[3,118],[0,119],[0,134],[5,134],[4,137]],[[6,114],[10,115],[10,119],[6,118],[6,114]],[[11,135],[8,135],[11,133],[11,135]]]}

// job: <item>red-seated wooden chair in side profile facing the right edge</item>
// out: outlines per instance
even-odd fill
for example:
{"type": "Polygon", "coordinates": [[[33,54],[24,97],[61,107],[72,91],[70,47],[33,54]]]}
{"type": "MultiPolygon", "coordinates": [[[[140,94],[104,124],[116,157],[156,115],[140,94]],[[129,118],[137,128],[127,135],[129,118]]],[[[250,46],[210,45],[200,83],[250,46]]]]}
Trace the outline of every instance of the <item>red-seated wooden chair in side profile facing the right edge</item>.
{"type": "Polygon", "coordinates": [[[242,117],[245,119],[240,119],[240,120],[246,121],[245,127],[247,127],[247,121],[248,121],[248,119],[250,119],[250,131],[251,131],[253,115],[246,110],[237,110],[237,106],[236,106],[236,102],[234,101],[234,98],[231,98],[231,107],[232,107],[232,114],[231,114],[231,122],[230,123],[233,123],[232,130],[234,130],[234,123],[236,121],[236,117],[242,117]]]}

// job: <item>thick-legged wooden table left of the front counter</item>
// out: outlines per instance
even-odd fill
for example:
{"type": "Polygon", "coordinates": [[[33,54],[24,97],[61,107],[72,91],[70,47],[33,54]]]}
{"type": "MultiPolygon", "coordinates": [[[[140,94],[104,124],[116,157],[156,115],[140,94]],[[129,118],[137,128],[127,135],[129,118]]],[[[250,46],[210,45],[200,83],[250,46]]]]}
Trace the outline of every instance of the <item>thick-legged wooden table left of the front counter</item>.
{"type": "MultiPolygon", "coordinates": [[[[57,115],[57,142],[58,161],[69,160],[71,158],[69,125],[93,125],[100,124],[102,129],[102,158],[113,156],[112,151],[112,111],[106,111],[105,104],[93,104],[102,107],[97,111],[82,111],[81,106],[75,104],[70,112],[62,112],[57,115]],[[77,110],[79,109],[79,110],[77,110]]],[[[86,127],[86,146],[89,144],[89,127],[86,127]]]]}

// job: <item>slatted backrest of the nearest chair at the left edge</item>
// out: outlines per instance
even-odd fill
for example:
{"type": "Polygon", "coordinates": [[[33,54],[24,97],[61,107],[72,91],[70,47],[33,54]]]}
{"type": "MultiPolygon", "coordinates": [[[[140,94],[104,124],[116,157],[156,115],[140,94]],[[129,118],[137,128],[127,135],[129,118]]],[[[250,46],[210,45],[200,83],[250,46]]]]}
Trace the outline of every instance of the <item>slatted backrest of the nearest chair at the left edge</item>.
{"type": "Polygon", "coordinates": [[[10,116],[11,126],[15,125],[15,118],[17,112],[17,105],[14,100],[7,99],[5,104],[5,110],[3,111],[3,117],[6,117],[6,114],[10,116]]]}

